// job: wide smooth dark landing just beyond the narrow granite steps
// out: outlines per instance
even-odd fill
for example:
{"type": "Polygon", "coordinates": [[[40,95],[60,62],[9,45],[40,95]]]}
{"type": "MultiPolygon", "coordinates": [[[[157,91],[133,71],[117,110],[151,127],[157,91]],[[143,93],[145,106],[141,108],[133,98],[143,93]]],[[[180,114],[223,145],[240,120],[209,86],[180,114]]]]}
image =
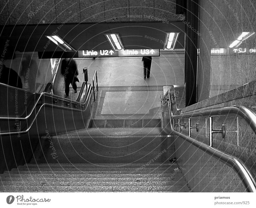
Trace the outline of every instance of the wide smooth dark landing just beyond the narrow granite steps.
{"type": "Polygon", "coordinates": [[[121,163],[165,162],[174,156],[173,138],[41,138],[36,149],[36,163],[121,163]],[[49,147],[52,148],[49,148],[49,147]],[[53,149],[54,148],[54,149],[53,149]],[[53,151],[54,150],[54,151],[53,151]],[[53,157],[54,155],[54,157],[53,157]],[[158,156],[159,155],[159,156],[158,156]]]}

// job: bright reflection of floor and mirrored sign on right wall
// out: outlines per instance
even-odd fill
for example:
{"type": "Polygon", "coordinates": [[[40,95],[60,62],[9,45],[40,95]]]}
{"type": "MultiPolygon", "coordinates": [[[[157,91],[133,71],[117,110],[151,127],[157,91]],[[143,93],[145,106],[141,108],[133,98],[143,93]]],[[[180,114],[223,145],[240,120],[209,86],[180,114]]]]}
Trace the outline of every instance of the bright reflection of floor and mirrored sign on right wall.
{"type": "Polygon", "coordinates": [[[209,97],[255,80],[255,47],[212,48],[209,97]]]}

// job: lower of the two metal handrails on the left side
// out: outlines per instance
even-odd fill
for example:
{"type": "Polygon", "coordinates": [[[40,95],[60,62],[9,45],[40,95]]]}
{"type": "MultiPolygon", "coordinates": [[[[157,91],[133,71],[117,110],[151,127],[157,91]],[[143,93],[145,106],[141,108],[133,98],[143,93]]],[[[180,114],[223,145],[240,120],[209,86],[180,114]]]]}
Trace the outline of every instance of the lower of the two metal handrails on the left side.
{"type": "MultiPolygon", "coordinates": [[[[90,85],[90,87],[89,87],[89,89],[88,89],[88,92],[90,92],[90,91],[92,90],[91,88],[92,88],[92,86],[90,85]]],[[[83,104],[80,103],[80,104],[81,104],[81,108],[83,108],[84,110],[82,110],[82,109],[79,110],[79,109],[73,109],[73,108],[72,108],[72,111],[81,111],[81,112],[85,111],[86,108],[88,107],[89,103],[90,103],[90,99],[89,99],[90,97],[91,97],[91,93],[87,93],[87,96],[86,96],[86,99],[85,99],[84,103],[83,103],[83,104]],[[85,106],[83,106],[83,105],[86,103],[86,101],[88,101],[88,102],[87,102],[87,105],[86,105],[86,107],[85,107],[85,106]]],[[[19,131],[19,132],[17,132],[17,131],[15,131],[15,132],[4,132],[4,133],[0,133],[0,135],[1,135],[1,136],[4,136],[4,135],[14,135],[14,134],[28,133],[29,129],[32,127],[34,121],[36,120],[36,117],[37,117],[37,115],[39,114],[40,110],[41,110],[44,106],[47,106],[47,105],[48,105],[48,106],[54,106],[54,107],[56,107],[56,108],[61,108],[61,109],[70,110],[70,107],[68,108],[68,107],[64,107],[64,106],[57,106],[57,105],[54,105],[54,104],[44,103],[44,104],[42,104],[42,105],[40,106],[40,108],[38,109],[38,111],[37,111],[35,117],[33,118],[33,120],[31,121],[30,125],[28,126],[28,128],[27,128],[26,130],[24,130],[24,131],[19,131]]],[[[69,106],[70,106],[70,105],[69,105],[69,106]]],[[[18,120],[20,120],[20,119],[18,119],[18,120]]]]}

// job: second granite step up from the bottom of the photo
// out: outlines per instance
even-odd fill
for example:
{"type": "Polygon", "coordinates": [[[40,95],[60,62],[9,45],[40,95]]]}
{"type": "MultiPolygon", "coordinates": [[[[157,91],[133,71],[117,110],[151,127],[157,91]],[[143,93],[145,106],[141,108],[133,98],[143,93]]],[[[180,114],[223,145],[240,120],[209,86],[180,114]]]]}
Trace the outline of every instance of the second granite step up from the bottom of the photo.
{"type": "Polygon", "coordinates": [[[69,182],[69,181],[3,181],[2,186],[173,186],[184,185],[184,181],[119,181],[119,182],[69,182]]]}

